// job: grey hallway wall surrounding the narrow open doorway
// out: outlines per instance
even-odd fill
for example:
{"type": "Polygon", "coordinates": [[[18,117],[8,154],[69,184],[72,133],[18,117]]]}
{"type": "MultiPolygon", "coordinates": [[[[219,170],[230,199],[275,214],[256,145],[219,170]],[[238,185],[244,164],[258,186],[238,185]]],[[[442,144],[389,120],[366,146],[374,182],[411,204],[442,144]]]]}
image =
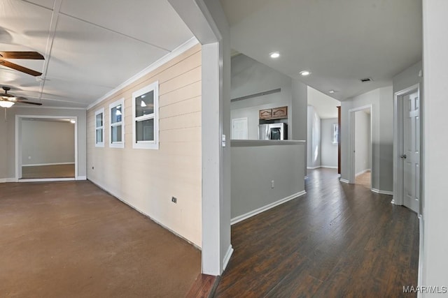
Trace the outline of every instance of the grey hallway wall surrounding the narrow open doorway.
{"type": "Polygon", "coordinates": [[[349,110],[372,105],[372,188],[393,191],[393,94],[382,87],[341,102],[341,179],[349,180],[349,110]]]}

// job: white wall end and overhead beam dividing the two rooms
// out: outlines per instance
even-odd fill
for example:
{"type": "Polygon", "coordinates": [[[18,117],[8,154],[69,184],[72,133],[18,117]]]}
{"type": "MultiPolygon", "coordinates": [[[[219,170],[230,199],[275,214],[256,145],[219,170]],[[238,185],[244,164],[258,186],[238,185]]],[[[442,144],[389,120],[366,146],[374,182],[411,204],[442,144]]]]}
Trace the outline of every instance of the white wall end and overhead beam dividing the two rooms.
{"type": "Polygon", "coordinates": [[[202,273],[220,275],[230,244],[230,28],[218,0],[168,0],[202,47],[202,273]]]}

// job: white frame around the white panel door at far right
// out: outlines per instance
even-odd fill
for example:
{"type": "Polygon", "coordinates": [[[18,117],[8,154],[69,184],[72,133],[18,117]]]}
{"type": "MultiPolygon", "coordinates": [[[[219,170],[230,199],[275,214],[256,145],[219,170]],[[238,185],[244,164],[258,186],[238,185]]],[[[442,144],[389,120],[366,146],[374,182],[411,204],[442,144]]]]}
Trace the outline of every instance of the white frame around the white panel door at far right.
{"type": "MultiPolygon", "coordinates": [[[[403,151],[403,112],[402,112],[402,104],[403,104],[403,98],[409,94],[413,94],[417,92],[419,94],[420,99],[420,107],[419,107],[419,117],[420,117],[420,133],[422,132],[421,129],[421,88],[420,83],[414,84],[411,87],[408,87],[406,89],[402,89],[398,92],[395,92],[393,96],[393,197],[392,197],[392,203],[396,205],[402,205],[404,204],[403,200],[403,163],[402,158],[400,158],[400,155],[403,151]]],[[[421,140],[422,136],[420,134],[420,186],[421,186],[421,179],[422,179],[422,157],[423,154],[421,154],[421,140]]],[[[421,187],[420,187],[420,193],[419,193],[419,212],[418,214],[421,214],[421,187]]]]}

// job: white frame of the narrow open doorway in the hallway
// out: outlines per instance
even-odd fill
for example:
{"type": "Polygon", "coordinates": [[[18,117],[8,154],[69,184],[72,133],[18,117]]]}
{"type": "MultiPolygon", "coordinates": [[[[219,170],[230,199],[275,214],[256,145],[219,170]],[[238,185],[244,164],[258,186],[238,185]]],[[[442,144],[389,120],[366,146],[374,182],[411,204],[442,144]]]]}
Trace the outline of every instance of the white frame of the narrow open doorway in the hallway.
{"type": "Polygon", "coordinates": [[[349,144],[349,184],[355,184],[355,113],[358,111],[370,109],[370,189],[372,189],[372,178],[373,178],[373,106],[363,105],[362,107],[354,107],[349,110],[349,131],[350,131],[350,144],[349,144]]]}

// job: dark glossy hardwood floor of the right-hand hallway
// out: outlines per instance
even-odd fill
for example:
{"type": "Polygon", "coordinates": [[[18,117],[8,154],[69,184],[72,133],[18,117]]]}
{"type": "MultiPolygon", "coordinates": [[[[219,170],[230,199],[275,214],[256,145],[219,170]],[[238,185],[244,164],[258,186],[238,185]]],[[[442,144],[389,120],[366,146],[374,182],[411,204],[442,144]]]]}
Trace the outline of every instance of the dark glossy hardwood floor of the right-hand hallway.
{"type": "Polygon", "coordinates": [[[309,171],[307,194],[232,226],[214,297],[415,297],[419,220],[391,196],[309,171]]]}

